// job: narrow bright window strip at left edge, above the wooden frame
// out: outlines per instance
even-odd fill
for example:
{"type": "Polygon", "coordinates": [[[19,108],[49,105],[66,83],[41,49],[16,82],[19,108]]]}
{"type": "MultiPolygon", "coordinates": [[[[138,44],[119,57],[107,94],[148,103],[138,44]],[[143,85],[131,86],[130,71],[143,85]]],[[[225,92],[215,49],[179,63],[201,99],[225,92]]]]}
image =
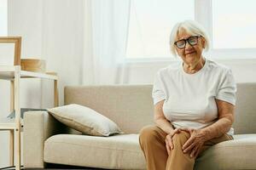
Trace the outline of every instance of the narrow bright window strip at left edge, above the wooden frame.
{"type": "Polygon", "coordinates": [[[7,36],[7,0],[0,0],[0,36],[7,36]]]}

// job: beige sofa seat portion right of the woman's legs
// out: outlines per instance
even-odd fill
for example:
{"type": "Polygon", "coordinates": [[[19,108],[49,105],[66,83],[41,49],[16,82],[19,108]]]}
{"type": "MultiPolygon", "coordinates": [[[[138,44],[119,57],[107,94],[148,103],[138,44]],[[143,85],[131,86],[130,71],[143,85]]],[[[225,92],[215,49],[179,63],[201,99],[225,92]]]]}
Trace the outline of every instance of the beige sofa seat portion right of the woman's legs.
{"type": "Polygon", "coordinates": [[[234,135],[234,140],[215,144],[195,162],[196,170],[256,169],[256,134],[234,135]]]}

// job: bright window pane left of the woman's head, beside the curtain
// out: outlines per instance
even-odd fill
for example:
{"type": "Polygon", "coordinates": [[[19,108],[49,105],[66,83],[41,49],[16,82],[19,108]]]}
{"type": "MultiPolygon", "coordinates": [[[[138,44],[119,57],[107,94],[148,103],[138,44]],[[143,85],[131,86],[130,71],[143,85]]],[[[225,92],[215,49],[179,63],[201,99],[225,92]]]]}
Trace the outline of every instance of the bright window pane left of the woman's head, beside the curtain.
{"type": "Polygon", "coordinates": [[[131,0],[126,58],[170,58],[172,27],[194,20],[194,6],[188,0],[131,0]]]}

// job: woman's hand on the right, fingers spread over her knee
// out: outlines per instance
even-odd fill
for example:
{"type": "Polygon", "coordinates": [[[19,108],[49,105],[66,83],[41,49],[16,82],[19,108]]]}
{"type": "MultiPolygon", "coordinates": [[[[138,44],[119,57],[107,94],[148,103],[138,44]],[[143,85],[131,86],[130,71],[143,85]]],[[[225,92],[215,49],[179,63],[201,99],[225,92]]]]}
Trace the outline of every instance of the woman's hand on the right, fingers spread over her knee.
{"type": "Polygon", "coordinates": [[[180,128],[190,134],[189,139],[183,144],[183,152],[189,153],[190,157],[196,157],[200,153],[201,147],[207,141],[205,133],[201,129],[180,128]]]}

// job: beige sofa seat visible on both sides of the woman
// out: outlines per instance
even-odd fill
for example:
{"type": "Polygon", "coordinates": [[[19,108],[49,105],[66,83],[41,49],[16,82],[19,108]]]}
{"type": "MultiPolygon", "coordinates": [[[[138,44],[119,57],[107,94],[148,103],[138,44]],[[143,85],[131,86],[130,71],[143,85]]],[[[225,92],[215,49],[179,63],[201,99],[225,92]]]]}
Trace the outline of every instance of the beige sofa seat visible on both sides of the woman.
{"type": "MultiPolygon", "coordinates": [[[[206,150],[195,162],[195,170],[256,169],[256,134],[234,135],[206,150]]],[[[59,134],[44,144],[44,161],[83,167],[146,169],[138,134],[107,138],[59,134]]]]}

